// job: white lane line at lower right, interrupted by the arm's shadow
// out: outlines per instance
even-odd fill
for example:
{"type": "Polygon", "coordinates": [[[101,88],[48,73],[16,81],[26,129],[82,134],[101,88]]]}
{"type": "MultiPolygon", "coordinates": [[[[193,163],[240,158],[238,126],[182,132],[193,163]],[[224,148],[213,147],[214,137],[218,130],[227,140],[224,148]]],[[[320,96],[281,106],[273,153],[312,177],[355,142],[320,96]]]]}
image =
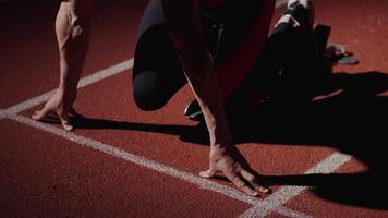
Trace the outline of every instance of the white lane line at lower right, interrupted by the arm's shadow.
{"type": "MultiPolygon", "coordinates": [[[[325,158],[323,161],[317,164],[315,167],[311,168],[305,172],[305,174],[311,173],[331,173],[343,164],[348,162],[351,159],[351,156],[334,153],[329,157],[325,158]]],[[[291,198],[295,197],[307,186],[283,186],[272,195],[265,198],[260,202],[259,205],[252,207],[251,209],[246,210],[241,218],[247,217],[265,217],[271,210],[276,210],[276,208],[282,206],[291,198]]]]}

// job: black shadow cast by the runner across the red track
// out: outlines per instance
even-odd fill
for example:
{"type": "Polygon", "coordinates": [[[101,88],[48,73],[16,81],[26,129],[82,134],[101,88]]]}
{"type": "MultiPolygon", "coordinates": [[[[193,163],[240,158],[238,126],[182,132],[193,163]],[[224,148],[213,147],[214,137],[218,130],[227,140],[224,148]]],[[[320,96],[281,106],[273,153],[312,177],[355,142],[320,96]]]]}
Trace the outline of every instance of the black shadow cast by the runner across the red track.
{"type": "MultiPolygon", "coordinates": [[[[260,104],[229,111],[235,143],[329,146],[367,166],[364,172],[267,175],[268,185],[305,185],[319,197],[341,204],[388,209],[388,74],[336,73],[314,101],[260,104]],[[248,112],[246,112],[248,111],[248,112]]],[[[208,144],[206,126],[116,122],[78,117],[78,129],[118,129],[179,135],[182,141],[208,144]]],[[[295,159],[298,161],[298,159],[295,159]]]]}

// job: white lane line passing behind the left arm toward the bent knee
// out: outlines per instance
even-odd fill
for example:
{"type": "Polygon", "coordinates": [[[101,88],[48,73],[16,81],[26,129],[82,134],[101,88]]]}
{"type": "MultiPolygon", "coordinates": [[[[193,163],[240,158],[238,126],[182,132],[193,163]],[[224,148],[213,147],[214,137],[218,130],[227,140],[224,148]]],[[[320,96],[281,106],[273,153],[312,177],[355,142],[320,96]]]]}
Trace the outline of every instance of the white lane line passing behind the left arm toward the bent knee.
{"type": "MultiPolygon", "coordinates": [[[[121,73],[125,70],[129,70],[129,69],[132,69],[133,68],[133,58],[130,59],[130,60],[126,60],[126,61],[123,61],[121,63],[118,63],[118,64],[114,64],[110,68],[107,68],[105,70],[101,70],[101,71],[98,71],[92,75],[88,75],[82,80],[80,80],[80,83],[78,83],[78,88],[82,88],[82,87],[85,87],[85,86],[88,86],[93,83],[97,83],[104,78],[107,78],[109,76],[112,76],[112,75],[116,75],[118,73],[121,73]]],[[[35,107],[37,105],[40,105],[45,101],[47,101],[48,99],[50,99],[50,97],[56,93],[56,89],[54,90],[50,90],[50,92],[47,92],[40,96],[37,96],[37,97],[34,97],[34,98],[31,98],[28,100],[25,100],[21,104],[17,104],[11,108],[8,109],[8,112],[10,113],[20,113],[24,110],[27,110],[32,107],[35,107]]]]}

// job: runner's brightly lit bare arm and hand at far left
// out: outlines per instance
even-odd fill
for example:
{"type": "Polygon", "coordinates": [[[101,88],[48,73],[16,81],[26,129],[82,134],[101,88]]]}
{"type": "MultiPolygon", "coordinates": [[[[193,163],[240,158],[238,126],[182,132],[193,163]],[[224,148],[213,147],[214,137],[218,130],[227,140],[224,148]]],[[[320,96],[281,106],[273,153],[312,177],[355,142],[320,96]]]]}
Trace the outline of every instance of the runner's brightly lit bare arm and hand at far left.
{"type": "Polygon", "coordinates": [[[53,97],[32,118],[43,120],[56,113],[65,130],[71,131],[69,112],[76,98],[77,84],[88,49],[92,0],[63,1],[56,21],[60,53],[60,83],[53,97]]]}

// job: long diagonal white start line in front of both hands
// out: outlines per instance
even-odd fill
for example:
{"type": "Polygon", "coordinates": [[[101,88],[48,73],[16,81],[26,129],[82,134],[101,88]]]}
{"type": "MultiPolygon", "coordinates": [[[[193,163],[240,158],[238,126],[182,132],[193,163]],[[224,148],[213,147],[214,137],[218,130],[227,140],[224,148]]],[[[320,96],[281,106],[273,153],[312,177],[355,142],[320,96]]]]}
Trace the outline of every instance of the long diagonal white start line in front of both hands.
{"type": "MultiPolygon", "coordinates": [[[[23,117],[23,116],[9,114],[7,117],[9,119],[11,119],[11,120],[16,121],[16,122],[20,122],[20,123],[26,124],[28,126],[32,126],[32,128],[35,128],[35,129],[51,133],[53,135],[63,137],[65,140],[72,141],[72,142],[74,142],[76,144],[80,144],[82,146],[86,146],[86,147],[96,149],[98,152],[101,152],[101,153],[105,153],[105,154],[108,154],[108,155],[124,159],[124,160],[130,161],[132,164],[135,164],[135,165],[142,166],[142,167],[155,170],[157,172],[161,172],[161,173],[171,175],[173,178],[178,178],[178,179],[183,180],[185,182],[198,185],[202,189],[209,190],[209,191],[213,191],[213,192],[217,192],[217,193],[220,193],[220,194],[226,195],[228,197],[231,197],[231,198],[234,198],[234,199],[238,199],[238,201],[251,204],[251,205],[259,206],[262,204],[260,199],[255,198],[255,197],[246,196],[246,195],[244,195],[244,194],[242,194],[242,193],[240,193],[240,192],[238,192],[238,191],[235,191],[235,190],[233,190],[231,187],[217,184],[216,182],[213,182],[210,180],[202,179],[202,178],[196,177],[194,174],[191,174],[189,172],[180,171],[178,169],[174,169],[172,167],[162,165],[160,162],[157,162],[157,161],[154,161],[154,160],[149,160],[149,159],[147,159],[145,157],[140,157],[140,156],[133,155],[131,153],[128,153],[125,150],[119,149],[119,148],[113,147],[111,145],[108,145],[108,144],[105,144],[105,143],[101,143],[101,142],[98,142],[98,141],[94,141],[94,140],[90,140],[90,138],[86,138],[84,136],[76,135],[76,134],[74,134],[72,132],[68,132],[68,131],[64,131],[62,129],[54,128],[54,126],[52,126],[50,124],[46,124],[46,123],[34,121],[34,120],[32,120],[29,118],[26,118],[26,117],[23,117]]],[[[271,208],[267,208],[267,209],[269,210],[271,208]]],[[[308,217],[308,216],[303,215],[302,213],[296,213],[296,211],[293,211],[293,210],[288,209],[288,208],[277,207],[277,208],[274,208],[274,209],[276,209],[279,214],[295,215],[295,217],[308,217]]]]}

